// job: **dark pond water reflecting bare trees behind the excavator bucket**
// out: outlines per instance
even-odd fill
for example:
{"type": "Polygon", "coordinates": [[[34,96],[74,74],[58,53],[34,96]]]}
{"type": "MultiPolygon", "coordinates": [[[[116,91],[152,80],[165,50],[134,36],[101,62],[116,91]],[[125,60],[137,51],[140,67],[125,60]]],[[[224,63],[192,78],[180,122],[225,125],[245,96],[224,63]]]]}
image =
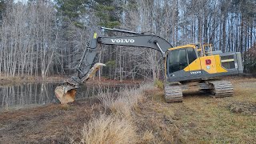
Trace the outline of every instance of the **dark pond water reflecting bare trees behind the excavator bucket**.
{"type": "MultiPolygon", "coordinates": [[[[56,86],[60,83],[26,83],[16,86],[0,87],[0,111],[18,110],[31,106],[43,106],[50,103],[59,103],[54,95],[56,86]]],[[[113,93],[122,88],[130,87],[127,85],[101,86],[101,85],[82,85],[76,94],[76,100],[91,98],[98,93],[113,93]]],[[[133,86],[134,87],[134,86],[133,86]]]]}

